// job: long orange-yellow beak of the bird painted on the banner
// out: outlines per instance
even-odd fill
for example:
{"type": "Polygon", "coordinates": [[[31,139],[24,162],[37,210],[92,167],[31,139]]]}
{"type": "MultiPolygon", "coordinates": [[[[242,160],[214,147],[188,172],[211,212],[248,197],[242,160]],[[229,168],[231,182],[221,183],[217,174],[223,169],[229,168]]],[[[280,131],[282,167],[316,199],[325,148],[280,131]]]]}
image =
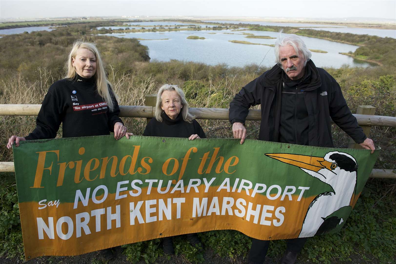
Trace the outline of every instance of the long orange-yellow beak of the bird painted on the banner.
{"type": "Polygon", "coordinates": [[[312,157],[306,155],[286,154],[286,153],[267,153],[265,156],[274,158],[281,162],[297,166],[302,169],[318,172],[326,168],[331,171],[331,162],[324,160],[323,157],[312,157]]]}

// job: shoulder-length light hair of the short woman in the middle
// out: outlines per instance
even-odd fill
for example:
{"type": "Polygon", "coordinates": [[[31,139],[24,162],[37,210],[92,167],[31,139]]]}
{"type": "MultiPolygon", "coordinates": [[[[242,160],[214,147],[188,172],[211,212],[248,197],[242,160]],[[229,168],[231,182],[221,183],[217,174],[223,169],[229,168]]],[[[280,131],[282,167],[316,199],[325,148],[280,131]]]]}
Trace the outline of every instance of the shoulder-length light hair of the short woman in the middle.
{"type": "Polygon", "coordinates": [[[164,84],[160,87],[160,89],[158,89],[157,102],[155,105],[155,119],[162,122],[161,114],[163,110],[161,108],[162,106],[161,96],[164,91],[175,91],[177,95],[180,96],[181,105],[183,106],[181,108],[181,115],[183,116],[183,120],[191,123],[192,120],[194,120],[195,116],[193,116],[188,112],[188,103],[183,90],[181,90],[177,85],[170,85],[170,84],[164,84]]]}

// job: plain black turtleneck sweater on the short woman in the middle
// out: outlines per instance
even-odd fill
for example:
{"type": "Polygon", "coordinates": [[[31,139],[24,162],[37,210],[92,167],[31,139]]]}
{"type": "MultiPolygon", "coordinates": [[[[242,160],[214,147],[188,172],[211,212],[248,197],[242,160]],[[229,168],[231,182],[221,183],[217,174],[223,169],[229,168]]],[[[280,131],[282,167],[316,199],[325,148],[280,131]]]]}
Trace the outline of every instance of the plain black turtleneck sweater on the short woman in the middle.
{"type": "Polygon", "coordinates": [[[176,119],[170,119],[165,112],[161,114],[162,122],[152,118],[148,122],[143,136],[152,137],[190,137],[197,134],[201,139],[206,138],[204,130],[200,124],[194,119],[192,123],[183,120],[181,113],[176,119]]]}

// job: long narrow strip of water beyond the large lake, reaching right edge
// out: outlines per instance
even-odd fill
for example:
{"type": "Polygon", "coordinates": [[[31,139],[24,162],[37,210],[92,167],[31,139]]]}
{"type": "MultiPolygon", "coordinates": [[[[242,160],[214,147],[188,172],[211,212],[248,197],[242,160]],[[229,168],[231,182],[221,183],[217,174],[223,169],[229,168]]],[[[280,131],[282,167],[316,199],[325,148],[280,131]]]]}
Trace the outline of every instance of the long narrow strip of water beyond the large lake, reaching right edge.
{"type": "Polygon", "coordinates": [[[247,23],[247,24],[259,24],[263,26],[278,26],[278,27],[299,27],[299,28],[309,28],[315,30],[325,30],[330,32],[341,32],[341,33],[352,33],[352,34],[367,34],[370,36],[378,36],[378,37],[389,37],[396,39],[396,30],[393,29],[365,29],[365,28],[357,28],[357,27],[343,27],[331,25],[320,25],[320,24],[304,24],[304,23],[275,23],[275,22],[263,22],[263,21],[216,21],[216,20],[202,20],[208,23],[211,22],[219,22],[219,23],[247,23]],[[313,27],[313,28],[312,28],[313,27]],[[320,27],[320,28],[317,28],[320,27]]]}

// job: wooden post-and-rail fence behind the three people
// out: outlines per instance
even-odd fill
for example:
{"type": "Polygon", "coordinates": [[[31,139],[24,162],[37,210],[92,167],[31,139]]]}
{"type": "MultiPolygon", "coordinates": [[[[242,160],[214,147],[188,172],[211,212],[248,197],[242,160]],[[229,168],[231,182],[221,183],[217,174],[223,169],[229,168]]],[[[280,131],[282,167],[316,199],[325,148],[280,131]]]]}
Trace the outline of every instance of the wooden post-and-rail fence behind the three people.
{"type": "MultiPolygon", "coordinates": [[[[155,104],[155,100],[149,100],[154,96],[156,95],[148,94],[146,101],[150,101],[150,104],[155,104]]],[[[40,108],[41,104],[0,104],[0,116],[37,116],[40,108]]],[[[120,117],[126,118],[153,118],[155,114],[154,106],[120,106],[120,110],[120,117]]],[[[196,116],[197,119],[228,120],[228,109],[225,108],[190,108],[190,113],[196,116]]],[[[354,116],[360,126],[396,127],[396,117],[366,114],[354,114],[354,116]]],[[[249,110],[246,120],[260,121],[260,110],[249,110]]],[[[0,172],[14,171],[13,162],[0,162],[0,172]]],[[[392,170],[373,169],[370,177],[396,179],[396,173],[392,170]]]]}

